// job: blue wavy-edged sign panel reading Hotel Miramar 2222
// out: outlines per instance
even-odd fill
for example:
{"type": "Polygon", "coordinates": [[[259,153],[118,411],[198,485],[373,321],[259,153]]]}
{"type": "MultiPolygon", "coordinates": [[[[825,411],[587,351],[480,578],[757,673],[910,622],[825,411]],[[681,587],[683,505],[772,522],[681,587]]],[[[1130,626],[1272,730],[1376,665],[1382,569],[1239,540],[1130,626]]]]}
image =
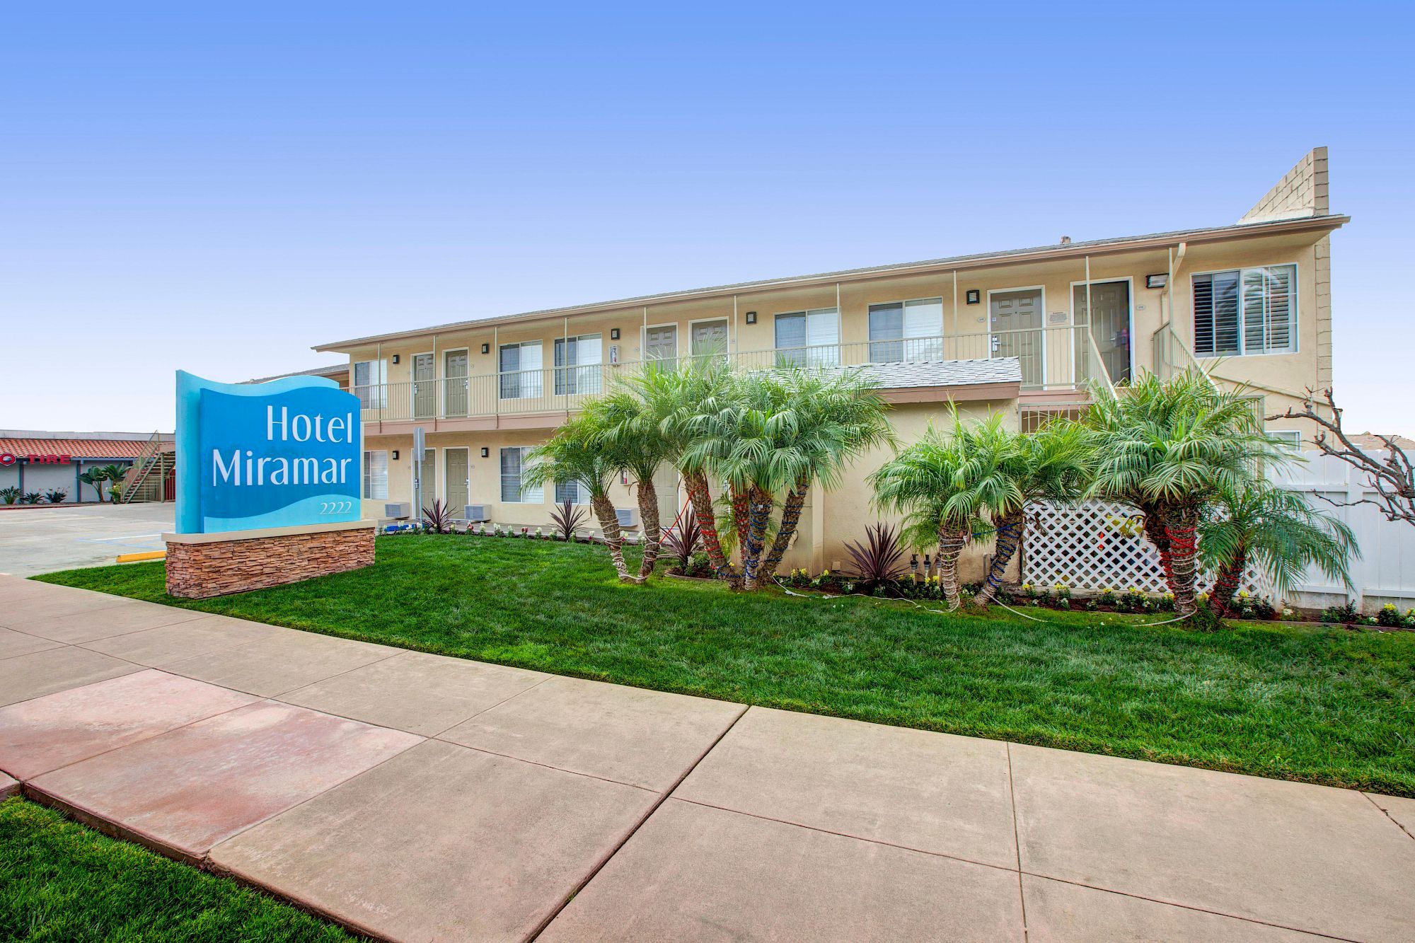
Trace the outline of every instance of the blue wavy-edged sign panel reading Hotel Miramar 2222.
{"type": "Polygon", "coordinates": [[[358,521],[362,432],[358,396],[323,377],[177,371],[177,532],[358,521]]]}

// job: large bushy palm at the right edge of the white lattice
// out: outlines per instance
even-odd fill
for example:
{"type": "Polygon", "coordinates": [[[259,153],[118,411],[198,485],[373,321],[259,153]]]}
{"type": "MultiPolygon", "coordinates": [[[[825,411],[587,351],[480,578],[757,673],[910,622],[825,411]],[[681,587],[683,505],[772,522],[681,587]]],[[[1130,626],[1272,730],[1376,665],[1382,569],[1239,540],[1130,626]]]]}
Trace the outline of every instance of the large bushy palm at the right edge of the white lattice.
{"type": "Polygon", "coordinates": [[[1090,497],[1122,501],[1145,517],[1176,609],[1196,609],[1197,528],[1221,488],[1242,488],[1264,464],[1292,453],[1262,432],[1244,389],[1220,389],[1199,370],[1169,381],[1145,374],[1121,392],[1092,391],[1082,423],[1094,449],[1090,497]]]}

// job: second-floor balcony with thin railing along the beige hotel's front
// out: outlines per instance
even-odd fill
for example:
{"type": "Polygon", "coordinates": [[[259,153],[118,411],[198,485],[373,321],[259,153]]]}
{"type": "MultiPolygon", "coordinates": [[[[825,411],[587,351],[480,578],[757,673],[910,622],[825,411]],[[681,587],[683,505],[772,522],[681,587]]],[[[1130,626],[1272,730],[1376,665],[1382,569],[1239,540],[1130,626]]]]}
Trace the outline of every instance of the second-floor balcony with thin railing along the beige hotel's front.
{"type": "MultiPolygon", "coordinates": [[[[1016,357],[1022,367],[1023,391],[1081,391],[1094,382],[1111,382],[1105,358],[1084,324],[706,355],[722,357],[740,370],[850,368],[1016,357]]],[[[504,416],[536,415],[553,418],[573,412],[587,398],[608,391],[618,377],[642,370],[647,364],[672,367],[679,360],[439,377],[355,385],[351,392],[364,405],[365,422],[497,421],[504,416]]]]}

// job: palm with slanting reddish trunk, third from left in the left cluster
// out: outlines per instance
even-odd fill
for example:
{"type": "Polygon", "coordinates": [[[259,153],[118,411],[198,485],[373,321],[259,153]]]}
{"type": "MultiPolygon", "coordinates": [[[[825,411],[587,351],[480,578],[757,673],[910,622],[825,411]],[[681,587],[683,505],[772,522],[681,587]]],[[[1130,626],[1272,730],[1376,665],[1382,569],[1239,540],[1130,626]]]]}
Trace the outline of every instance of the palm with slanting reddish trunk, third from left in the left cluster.
{"type": "MultiPolygon", "coordinates": [[[[688,452],[702,429],[726,408],[730,379],[723,358],[705,357],[675,367],[648,364],[642,372],[621,381],[621,388],[641,402],[641,409],[634,413],[637,422],[657,429],[665,460],[682,476],[702,531],[708,562],[720,579],[734,579],[736,573],[723,554],[717,534],[706,462],[688,452]]],[[[624,435],[633,435],[633,429],[625,429],[624,435]]]]}

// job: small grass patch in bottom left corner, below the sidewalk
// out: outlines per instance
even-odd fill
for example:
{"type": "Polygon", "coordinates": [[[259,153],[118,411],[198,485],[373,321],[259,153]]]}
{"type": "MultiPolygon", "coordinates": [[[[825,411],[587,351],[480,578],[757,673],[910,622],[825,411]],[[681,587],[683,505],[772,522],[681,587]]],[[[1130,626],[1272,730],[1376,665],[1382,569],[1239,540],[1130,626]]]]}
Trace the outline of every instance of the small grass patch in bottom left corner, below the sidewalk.
{"type": "Polygon", "coordinates": [[[280,940],[350,935],[228,878],[102,835],[59,813],[0,803],[0,940],[280,940]]]}

